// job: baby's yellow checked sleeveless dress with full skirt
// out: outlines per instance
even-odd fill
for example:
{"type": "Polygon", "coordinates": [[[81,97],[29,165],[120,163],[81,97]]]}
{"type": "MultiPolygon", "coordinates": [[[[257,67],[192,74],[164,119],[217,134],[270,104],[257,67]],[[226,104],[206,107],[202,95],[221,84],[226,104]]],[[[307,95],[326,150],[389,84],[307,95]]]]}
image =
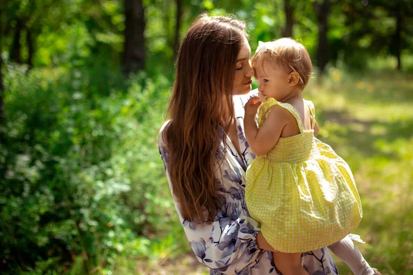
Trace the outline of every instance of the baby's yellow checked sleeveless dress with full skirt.
{"type": "MultiPolygon", "coordinates": [[[[266,155],[246,171],[245,199],[253,219],[275,250],[295,253],[324,248],[359,225],[363,211],[351,170],[330,146],[305,131],[295,108],[269,98],[258,112],[258,125],[275,105],[293,113],[298,135],[280,137],[266,155]]],[[[271,137],[268,137],[271,138],[271,137]]]]}

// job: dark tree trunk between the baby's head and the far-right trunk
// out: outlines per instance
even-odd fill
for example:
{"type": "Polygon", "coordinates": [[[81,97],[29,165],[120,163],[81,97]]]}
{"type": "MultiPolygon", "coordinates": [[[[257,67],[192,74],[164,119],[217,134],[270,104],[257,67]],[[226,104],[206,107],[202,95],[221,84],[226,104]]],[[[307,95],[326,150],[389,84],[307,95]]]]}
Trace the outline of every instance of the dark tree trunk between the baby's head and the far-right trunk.
{"type": "Polygon", "coordinates": [[[319,68],[320,77],[324,76],[324,71],[329,59],[328,52],[328,15],[330,13],[330,0],[324,0],[322,3],[313,2],[315,13],[317,14],[319,39],[317,45],[317,67],[319,68]]]}

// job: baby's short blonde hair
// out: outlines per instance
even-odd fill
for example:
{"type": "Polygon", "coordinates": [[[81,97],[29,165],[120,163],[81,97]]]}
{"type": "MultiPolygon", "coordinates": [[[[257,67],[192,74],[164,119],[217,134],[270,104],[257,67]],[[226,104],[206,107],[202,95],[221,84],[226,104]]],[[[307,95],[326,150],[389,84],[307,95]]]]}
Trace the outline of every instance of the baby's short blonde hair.
{"type": "Polygon", "coordinates": [[[285,69],[286,72],[295,70],[300,78],[297,86],[304,89],[313,73],[313,64],[311,63],[310,54],[306,47],[294,39],[277,39],[275,41],[264,43],[264,47],[259,47],[251,59],[253,68],[264,65],[264,61],[270,65],[277,64],[285,69]]]}

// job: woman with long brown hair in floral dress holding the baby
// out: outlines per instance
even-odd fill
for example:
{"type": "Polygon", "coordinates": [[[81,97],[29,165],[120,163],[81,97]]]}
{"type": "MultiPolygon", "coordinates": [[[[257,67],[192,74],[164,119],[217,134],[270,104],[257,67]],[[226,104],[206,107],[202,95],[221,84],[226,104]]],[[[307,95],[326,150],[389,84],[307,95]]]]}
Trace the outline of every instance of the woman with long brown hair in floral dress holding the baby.
{"type": "MultiPolygon", "coordinates": [[[[253,96],[244,23],[200,16],[184,36],[159,148],[191,248],[211,274],[276,274],[273,248],[244,201],[255,155],[244,137],[253,96]],[[249,94],[248,94],[249,93],[249,94]]],[[[326,248],[302,254],[309,274],[338,274],[326,248]]]]}

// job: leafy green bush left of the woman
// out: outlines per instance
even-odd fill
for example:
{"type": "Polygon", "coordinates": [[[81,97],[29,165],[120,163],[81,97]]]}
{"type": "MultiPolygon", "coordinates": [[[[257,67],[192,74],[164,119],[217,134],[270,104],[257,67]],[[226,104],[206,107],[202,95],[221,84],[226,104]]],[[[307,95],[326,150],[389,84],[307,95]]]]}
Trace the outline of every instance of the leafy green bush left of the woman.
{"type": "Polygon", "coordinates": [[[4,274],[105,271],[173,206],[154,134],[170,83],[8,65],[0,126],[4,274]],[[100,78],[98,78],[100,76],[100,78]],[[145,115],[144,115],[145,114],[145,115]],[[165,199],[167,197],[167,199],[165,199]]]}

